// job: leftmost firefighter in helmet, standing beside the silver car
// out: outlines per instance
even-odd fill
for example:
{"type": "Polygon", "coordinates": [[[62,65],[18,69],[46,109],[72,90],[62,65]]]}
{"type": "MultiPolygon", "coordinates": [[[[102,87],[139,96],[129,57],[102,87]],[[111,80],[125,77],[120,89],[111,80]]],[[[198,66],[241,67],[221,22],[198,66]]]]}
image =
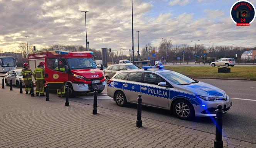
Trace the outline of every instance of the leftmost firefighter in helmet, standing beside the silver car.
{"type": "Polygon", "coordinates": [[[33,76],[33,72],[31,71],[31,69],[29,69],[29,64],[24,63],[23,64],[23,69],[21,70],[21,74],[23,76],[24,79],[24,83],[25,83],[25,91],[26,94],[31,94],[31,81],[32,81],[32,76],[33,76]]]}

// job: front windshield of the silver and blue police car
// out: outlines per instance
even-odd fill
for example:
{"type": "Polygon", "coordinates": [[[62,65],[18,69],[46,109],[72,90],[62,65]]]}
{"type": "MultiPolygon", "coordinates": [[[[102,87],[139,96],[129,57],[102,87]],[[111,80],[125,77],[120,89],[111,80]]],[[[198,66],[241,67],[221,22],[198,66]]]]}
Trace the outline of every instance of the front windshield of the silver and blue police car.
{"type": "Polygon", "coordinates": [[[160,74],[166,79],[168,79],[169,81],[177,85],[189,85],[189,84],[199,82],[199,81],[194,81],[193,79],[175,71],[161,72],[160,74]]]}

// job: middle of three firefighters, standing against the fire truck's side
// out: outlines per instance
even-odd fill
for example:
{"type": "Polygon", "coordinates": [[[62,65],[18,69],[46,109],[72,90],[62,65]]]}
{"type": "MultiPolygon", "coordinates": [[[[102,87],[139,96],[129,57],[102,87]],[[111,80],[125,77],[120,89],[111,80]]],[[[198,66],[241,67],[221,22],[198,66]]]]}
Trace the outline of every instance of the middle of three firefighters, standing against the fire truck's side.
{"type": "Polygon", "coordinates": [[[44,62],[40,62],[37,68],[33,72],[35,78],[35,94],[36,96],[45,96],[44,94],[44,62]]]}

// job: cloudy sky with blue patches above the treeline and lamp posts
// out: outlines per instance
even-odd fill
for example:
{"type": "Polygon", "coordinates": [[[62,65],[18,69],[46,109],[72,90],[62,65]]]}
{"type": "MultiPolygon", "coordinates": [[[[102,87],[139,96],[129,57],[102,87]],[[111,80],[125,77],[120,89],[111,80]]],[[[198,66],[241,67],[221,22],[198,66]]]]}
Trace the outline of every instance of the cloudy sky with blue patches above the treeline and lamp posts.
{"type": "MultiPolygon", "coordinates": [[[[256,0],[249,0],[256,5],[256,0]]],[[[237,27],[229,11],[236,0],[133,0],[134,41],[140,48],[191,41],[211,46],[256,45],[256,20],[237,27]]],[[[38,49],[51,44],[85,46],[84,13],[89,47],[131,48],[131,0],[0,0],[0,49],[18,49],[26,42],[38,49]]],[[[136,49],[135,48],[135,49],[136,49]]]]}

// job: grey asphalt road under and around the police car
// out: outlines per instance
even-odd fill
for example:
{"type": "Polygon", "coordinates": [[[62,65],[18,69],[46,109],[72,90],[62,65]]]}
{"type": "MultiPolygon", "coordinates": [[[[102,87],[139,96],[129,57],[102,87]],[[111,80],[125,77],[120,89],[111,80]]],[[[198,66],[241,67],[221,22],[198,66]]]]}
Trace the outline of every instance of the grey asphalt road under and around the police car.
{"type": "MultiPolygon", "coordinates": [[[[223,135],[236,138],[238,140],[256,143],[256,82],[210,79],[198,80],[223,89],[232,98],[232,108],[224,115],[223,119],[223,135]]],[[[107,92],[105,89],[101,94],[99,94],[99,107],[131,113],[133,115],[137,114],[135,104],[128,104],[127,107],[119,107],[116,105],[113,99],[106,95],[106,93],[107,92]]],[[[78,94],[77,98],[71,100],[92,105],[93,93],[81,93],[78,94]]],[[[185,121],[174,117],[166,110],[145,106],[143,106],[142,117],[172,123],[204,132],[215,133],[215,118],[197,117],[193,121],[185,121]]]]}

